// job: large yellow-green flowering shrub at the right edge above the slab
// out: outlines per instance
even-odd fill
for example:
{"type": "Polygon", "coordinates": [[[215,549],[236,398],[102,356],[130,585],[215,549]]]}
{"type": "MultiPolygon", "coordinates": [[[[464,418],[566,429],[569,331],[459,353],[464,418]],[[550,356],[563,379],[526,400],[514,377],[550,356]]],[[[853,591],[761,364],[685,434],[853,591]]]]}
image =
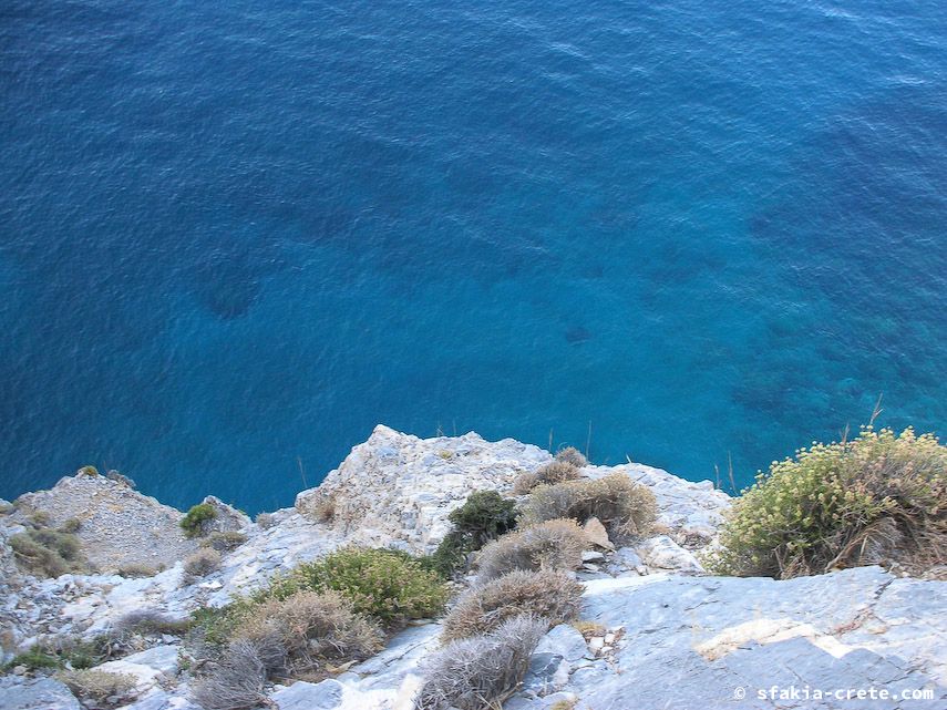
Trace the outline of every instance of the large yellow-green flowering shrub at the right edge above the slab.
{"type": "Polygon", "coordinates": [[[708,557],[718,574],[790,578],[947,554],[947,447],[907,429],[862,430],[774,462],[737,498],[708,557]]]}

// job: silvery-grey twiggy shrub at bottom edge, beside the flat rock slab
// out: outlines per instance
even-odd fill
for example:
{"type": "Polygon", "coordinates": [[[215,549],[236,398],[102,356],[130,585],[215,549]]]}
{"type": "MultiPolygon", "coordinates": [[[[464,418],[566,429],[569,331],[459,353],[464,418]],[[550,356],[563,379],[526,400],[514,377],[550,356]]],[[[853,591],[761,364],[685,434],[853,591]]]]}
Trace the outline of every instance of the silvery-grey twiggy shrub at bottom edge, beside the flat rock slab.
{"type": "Polygon", "coordinates": [[[424,665],[415,710],[494,710],[515,691],[546,632],[545,619],[507,619],[490,634],[453,641],[424,665]]]}

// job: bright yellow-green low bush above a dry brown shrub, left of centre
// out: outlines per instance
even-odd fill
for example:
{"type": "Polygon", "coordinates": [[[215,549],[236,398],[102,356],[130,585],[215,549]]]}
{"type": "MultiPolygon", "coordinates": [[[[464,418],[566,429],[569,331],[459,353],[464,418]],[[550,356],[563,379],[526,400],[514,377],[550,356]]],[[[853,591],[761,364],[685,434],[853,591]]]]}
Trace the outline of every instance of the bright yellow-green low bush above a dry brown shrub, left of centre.
{"type": "Polygon", "coordinates": [[[400,624],[436,615],[447,599],[447,588],[421,562],[394,549],[343,547],[296,567],[276,579],[264,595],[285,599],[302,590],[333,589],[348,598],[356,611],[400,624]]]}

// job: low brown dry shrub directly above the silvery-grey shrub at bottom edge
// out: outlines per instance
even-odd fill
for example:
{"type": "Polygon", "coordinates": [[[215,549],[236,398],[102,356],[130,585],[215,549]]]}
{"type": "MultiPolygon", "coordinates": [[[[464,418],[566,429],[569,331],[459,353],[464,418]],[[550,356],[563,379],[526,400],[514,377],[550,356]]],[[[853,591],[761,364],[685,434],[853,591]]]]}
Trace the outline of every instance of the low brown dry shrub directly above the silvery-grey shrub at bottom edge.
{"type": "Polygon", "coordinates": [[[548,627],[578,615],[583,586],[569,574],[543,569],[512,572],[464,595],[444,619],[443,639],[452,641],[485,634],[504,620],[532,614],[548,627]]]}

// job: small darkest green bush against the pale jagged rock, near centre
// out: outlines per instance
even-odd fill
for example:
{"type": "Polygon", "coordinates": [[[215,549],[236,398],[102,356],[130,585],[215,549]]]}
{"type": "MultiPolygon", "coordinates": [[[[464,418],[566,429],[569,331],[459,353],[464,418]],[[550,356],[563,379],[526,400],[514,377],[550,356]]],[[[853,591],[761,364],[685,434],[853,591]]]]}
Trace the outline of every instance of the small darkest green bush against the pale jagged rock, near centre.
{"type": "Polygon", "coordinates": [[[472,493],[447,516],[454,527],[431,556],[432,568],[450,578],[464,566],[469,553],[515,528],[516,517],[515,503],[496,491],[472,493]]]}

